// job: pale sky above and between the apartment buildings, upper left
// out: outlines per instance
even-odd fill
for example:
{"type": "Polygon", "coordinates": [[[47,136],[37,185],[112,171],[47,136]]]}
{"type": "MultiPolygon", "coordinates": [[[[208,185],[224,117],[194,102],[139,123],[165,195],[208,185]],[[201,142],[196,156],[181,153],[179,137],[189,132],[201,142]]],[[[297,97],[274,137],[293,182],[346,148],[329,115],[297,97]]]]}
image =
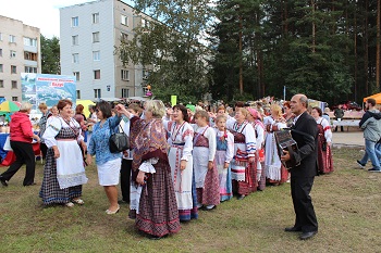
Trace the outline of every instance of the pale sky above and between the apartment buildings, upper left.
{"type": "MultiPolygon", "coordinates": [[[[60,37],[60,8],[95,0],[0,0],[0,15],[40,28],[48,38],[60,37]]],[[[134,5],[132,0],[124,2],[134,5]]]]}

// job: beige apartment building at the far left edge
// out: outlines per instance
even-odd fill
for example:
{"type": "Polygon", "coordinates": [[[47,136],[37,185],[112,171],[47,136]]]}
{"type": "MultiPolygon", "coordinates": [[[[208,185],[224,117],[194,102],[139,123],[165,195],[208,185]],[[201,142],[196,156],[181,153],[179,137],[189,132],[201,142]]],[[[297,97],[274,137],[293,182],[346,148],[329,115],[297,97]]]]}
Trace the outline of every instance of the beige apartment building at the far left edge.
{"type": "Polygon", "coordinates": [[[22,101],[21,73],[41,73],[39,28],[0,15],[0,98],[22,101]]]}

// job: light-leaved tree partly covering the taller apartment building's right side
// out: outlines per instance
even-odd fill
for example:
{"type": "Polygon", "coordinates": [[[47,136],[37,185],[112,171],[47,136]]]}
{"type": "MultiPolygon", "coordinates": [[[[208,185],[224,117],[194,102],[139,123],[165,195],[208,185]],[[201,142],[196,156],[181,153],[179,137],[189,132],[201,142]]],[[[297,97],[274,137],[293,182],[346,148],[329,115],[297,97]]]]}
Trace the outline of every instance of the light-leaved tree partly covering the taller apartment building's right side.
{"type": "MultiPolygon", "coordinates": [[[[177,94],[183,102],[196,102],[208,89],[209,49],[200,35],[210,20],[209,0],[137,0],[136,14],[150,13],[153,20],[134,28],[134,38],[122,41],[115,52],[124,65],[150,68],[148,83],[153,94],[169,100],[177,94]]],[[[144,18],[144,17],[143,17],[144,18]]]]}

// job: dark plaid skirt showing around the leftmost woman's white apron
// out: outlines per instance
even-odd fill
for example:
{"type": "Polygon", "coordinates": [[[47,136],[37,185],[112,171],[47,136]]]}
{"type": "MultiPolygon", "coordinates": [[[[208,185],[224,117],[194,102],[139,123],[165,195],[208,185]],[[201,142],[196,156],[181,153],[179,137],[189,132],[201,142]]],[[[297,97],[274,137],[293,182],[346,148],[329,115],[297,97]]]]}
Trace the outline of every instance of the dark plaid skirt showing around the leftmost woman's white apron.
{"type": "Polygon", "coordinates": [[[70,202],[73,198],[82,195],[82,186],[69,187],[60,189],[57,180],[57,164],[54,159],[54,151],[52,148],[48,149],[46,164],[44,167],[44,179],[39,197],[44,204],[64,204],[70,202]]]}

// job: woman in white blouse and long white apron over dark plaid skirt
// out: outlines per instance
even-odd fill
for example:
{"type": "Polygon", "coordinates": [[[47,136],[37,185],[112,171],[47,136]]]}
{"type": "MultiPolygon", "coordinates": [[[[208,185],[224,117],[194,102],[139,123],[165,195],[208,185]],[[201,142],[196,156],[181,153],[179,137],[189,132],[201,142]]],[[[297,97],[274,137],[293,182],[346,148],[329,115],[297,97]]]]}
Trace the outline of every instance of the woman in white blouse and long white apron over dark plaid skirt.
{"type": "Polygon", "coordinates": [[[61,203],[69,207],[84,204],[82,185],[87,182],[83,154],[86,150],[79,124],[71,117],[72,101],[60,100],[60,114],[49,121],[42,138],[48,147],[39,197],[44,204],[61,203]]]}

